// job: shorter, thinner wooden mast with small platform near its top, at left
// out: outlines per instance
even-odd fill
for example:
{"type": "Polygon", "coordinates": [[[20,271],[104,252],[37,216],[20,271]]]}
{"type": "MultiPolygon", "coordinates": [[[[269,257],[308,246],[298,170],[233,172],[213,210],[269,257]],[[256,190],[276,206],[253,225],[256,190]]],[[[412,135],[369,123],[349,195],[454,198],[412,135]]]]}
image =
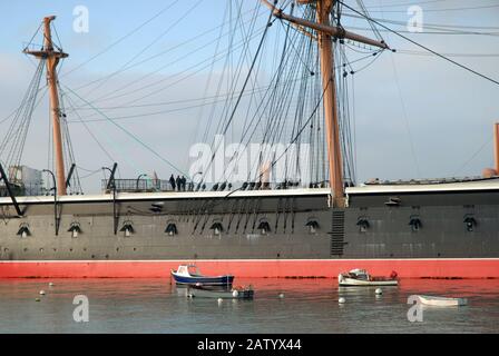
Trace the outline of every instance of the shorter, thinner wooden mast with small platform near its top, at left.
{"type": "Polygon", "coordinates": [[[56,19],[55,16],[43,18],[43,47],[41,50],[25,50],[25,53],[32,55],[38,59],[47,60],[47,83],[50,95],[50,115],[52,118],[53,128],[53,151],[56,158],[56,180],[57,191],[59,195],[66,195],[66,175],[65,175],[65,159],[62,155],[62,135],[60,130],[60,108],[59,93],[57,90],[57,65],[61,58],[68,57],[67,53],[53,50],[52,36],[50,31],[50,23],[56,19]]]}

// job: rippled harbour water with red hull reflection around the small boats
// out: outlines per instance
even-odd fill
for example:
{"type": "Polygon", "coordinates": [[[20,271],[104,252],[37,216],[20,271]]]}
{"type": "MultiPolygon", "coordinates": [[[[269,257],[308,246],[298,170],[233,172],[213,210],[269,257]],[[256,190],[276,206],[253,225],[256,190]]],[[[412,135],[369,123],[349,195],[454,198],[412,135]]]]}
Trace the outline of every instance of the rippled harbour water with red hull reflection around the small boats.
{"type": "Polygon", "coordinates": [[[169,279],[3,279],[0,333],[498,333],[499,280],[408,279],[399,287],[337,287],[335,279],[238,279],[254,300],[190,299],[169,279]],[[49,281],[55,285],[49,286],[49,281]],[[45,296],[39,290],[46,290],[45,296]],[[280,297],[280,294],[281,297],[280,297]],[[464,307],[424,307],[414,294],[467,297],[464,307]],[[76,295],[90,303],[75,323],[76,295]],[[340,305],[337,299],[346,303],[340,305]],[[36,301],[40,298],[40,301],[36,301]]]}

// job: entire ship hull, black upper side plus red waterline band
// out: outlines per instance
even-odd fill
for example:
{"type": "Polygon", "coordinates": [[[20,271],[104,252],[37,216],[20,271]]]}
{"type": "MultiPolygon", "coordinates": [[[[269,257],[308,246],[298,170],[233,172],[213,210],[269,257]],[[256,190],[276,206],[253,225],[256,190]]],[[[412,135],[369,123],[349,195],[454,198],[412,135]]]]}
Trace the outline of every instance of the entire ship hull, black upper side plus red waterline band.
{"type": "Polygon", "coordinates": [[[22,217],[1,198],[0,277],[499,278],[499,182],[458,188],[348,189],[346,208],[329,189],[61,197],[59,220],[51,197],[22,217]]]}

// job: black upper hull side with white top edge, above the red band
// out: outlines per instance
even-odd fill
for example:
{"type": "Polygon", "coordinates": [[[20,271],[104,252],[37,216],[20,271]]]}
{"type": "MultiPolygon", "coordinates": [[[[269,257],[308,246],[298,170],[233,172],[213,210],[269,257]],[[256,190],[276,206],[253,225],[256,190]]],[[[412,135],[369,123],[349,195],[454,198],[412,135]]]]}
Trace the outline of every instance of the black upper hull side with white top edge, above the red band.
{"type": "Polygon", "coordinates": [[[65,197],[57,235],[50,197],[20,199],[23,217],[1,198],[0,259],[499,257],[499,189],[409,191],[397,194],[398,205],[387,204],[394,196],[350,194],[348,208],[330,208],[326,189],[65,197]]]}

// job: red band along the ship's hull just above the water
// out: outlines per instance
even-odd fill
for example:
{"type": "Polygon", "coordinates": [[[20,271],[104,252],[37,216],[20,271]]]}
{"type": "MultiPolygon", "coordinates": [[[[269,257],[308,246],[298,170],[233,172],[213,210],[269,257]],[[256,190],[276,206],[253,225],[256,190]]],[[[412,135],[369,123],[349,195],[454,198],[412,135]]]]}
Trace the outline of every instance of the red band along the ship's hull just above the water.
{"type": "Polygon", "coordinates": [[[0,278],[155,278],[195,263],[206,275],[336,278],[353,268],[401,278],[499,278],[499,258],[0,261],[0,278]]]}

